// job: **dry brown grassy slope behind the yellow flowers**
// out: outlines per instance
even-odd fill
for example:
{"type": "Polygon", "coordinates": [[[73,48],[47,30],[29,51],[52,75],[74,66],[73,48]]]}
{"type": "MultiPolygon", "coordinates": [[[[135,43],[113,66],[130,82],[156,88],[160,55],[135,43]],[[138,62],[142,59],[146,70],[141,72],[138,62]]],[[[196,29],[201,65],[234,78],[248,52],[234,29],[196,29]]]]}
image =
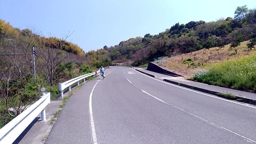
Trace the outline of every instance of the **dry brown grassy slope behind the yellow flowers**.
{"type": "Polygon", "coordinates": [[[166,62],[166,69],[170,69],[171,71],[183,76],[191,76],[194,71],[201,69],[205,65],[219,63],[222,60],[231,60],[239,56],[251,55],[255,53],[255,50],[249,50],[247,48],[246,44],[248,43],[249,41],[242,42],[241,45],[237,47],[238,50],[236,55],[230,55],[231,53],[234,53],[235,50],[231,49],[230,44],[228,44],[223,48],[214,47],[210,49],[202,49],[196,52],[164,59],[162,61],[166,62]],[[194,63],[203,63],[203,66],[197,66],[194,68],[190,66],[188,68],[188,64],[182,64],[182,61],[188,58],[194,60],[194,63]]]}

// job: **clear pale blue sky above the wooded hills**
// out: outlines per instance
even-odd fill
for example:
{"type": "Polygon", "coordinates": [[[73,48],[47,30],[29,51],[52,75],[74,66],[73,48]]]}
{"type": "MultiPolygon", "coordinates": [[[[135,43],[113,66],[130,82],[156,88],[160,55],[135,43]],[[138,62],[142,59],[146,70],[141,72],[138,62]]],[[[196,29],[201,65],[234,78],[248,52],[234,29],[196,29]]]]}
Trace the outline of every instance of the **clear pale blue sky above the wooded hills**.
{"type": "Polygon", "coordinates": [[[32,28],[68,38],[85,52],[119,44],[176,22],[234,17],[237,6],[256,8],[255,0],[0,0],[0,19],[16,28],[32,28]]]}

